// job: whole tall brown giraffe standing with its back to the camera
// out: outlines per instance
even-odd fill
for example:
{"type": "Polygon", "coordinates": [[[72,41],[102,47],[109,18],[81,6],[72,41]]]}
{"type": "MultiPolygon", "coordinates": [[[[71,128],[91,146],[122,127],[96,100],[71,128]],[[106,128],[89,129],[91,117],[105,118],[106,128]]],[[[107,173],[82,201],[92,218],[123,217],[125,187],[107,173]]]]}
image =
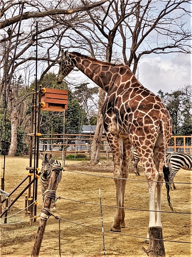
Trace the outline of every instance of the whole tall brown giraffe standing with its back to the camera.
{"type": "MultiPolygon", "coordinates": [[[[74,67],[107,93],[102,116],[114,160],[117,207],[111,231],[119,232],[121,228],[125,228],[124,194],[132,145],[137,150],[148,185],[150,216],[148,227],[162,227],[161,189],[168,171],[164,163],[166,163],[166,148],[172,134],[172,119],[167,109],[158,96],[141,85],[127,65],[102,62],[78,52],[62,50],[57,83],[62,83],[63,78],[74,67]],[[122,162],[119,139],[123,142],[122,162]]],[[[167,199],[169,206],[172,207],[169,201],[168,183],[166,186],[167,199]]]]}

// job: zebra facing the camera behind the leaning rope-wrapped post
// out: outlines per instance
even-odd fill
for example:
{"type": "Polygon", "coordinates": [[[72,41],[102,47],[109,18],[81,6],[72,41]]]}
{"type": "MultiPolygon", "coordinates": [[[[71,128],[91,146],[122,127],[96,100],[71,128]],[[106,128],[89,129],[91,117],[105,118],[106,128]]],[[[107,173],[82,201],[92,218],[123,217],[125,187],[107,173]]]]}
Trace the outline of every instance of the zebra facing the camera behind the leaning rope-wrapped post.
{"type": "MultiPolygon", "coordinates": [[[[45,199],[45,191],[49,187],[49,181],[52,175],[52,165],[56,164],[58,167],[61,167],[61,163],[58,160],[51,159],[52,154],[41,154],[40,153],[40,158],[42,160],[42,168],[41,168],[41,175],[40,175],[40,185],[41,185],[41,192],[42,192],[42,200],[44,201],[45,199]]],[[[62,170],[59,172],[59,175],[57,177],[57,183],[55,187],[55,192],[57,190],[58,183],[60,182],[62,178],[62,170]]],[[[53,211],[56,211],[56,200],[53,198],[53,211]]]]}

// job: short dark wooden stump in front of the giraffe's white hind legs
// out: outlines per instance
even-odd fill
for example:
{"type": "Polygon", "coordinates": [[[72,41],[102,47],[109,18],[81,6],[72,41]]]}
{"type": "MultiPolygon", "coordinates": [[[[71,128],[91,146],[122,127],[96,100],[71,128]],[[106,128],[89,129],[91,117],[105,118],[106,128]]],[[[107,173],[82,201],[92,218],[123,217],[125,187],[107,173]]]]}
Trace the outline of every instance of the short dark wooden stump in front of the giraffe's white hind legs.
{"type": "Polygon", "coordinates": [[[150,227],[148,229],[148,235],[150,238],[148,249],[146,250],[144,247],[142,249],[150,257],[165,257],[162,227],[150,227]],[[153,240],[153,238],[159,240],[153,240]]]}

